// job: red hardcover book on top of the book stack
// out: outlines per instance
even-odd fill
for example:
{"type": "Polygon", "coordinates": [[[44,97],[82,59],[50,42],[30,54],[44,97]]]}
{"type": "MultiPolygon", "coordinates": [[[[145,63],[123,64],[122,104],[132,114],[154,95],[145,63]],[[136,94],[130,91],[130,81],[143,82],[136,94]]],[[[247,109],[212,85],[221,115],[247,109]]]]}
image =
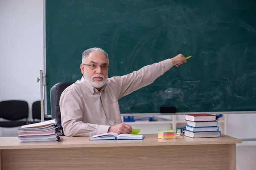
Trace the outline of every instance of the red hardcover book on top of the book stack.
{"type": "Polygon", "coordinates": [[[186,114],[185,120],[192,122],[205,122],[205,121],[215,121],[216,115],[200,113],[200,114],[186,114]]]}

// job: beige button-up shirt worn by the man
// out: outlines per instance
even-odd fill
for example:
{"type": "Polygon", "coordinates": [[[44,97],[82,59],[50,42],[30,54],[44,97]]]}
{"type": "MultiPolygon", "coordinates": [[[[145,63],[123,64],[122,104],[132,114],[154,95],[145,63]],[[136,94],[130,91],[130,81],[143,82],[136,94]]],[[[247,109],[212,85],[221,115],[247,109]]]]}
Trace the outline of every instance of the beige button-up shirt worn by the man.
{"type": "Polygon", "coordinates": [[[118,99],[154,82],[172,68],[172,60],[147,65],[121,77],[111,77],[98,91],[84,77],[61,94],[61,125],[66,136],[93,136],[107,133],[122,123],[118,99]]]}

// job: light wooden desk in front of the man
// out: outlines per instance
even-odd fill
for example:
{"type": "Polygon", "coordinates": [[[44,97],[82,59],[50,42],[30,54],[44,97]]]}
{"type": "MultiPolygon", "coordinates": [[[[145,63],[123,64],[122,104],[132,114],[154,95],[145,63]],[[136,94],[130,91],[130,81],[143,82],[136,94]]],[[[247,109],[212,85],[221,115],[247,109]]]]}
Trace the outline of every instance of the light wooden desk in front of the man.
{"type": "Polygon", "coordinates": [[[0,138],[1,170],[236,170],[236,143],[221,138],[89,141],[61,136],[56,143],[0,138]]]}

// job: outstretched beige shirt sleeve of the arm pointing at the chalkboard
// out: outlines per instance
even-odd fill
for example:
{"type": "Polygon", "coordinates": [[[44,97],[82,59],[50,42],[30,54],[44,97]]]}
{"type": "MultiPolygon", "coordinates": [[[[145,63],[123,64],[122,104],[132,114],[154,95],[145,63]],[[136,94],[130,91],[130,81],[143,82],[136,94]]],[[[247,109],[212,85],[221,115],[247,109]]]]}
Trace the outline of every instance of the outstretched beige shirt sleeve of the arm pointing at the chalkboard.
{"type": "Polygon", "coordinates": [[[116,98],[120,99],[133,91],[150,85],[172,66],[172,59],[166,59],[121,77],[111,77],[110,85],[113,85],[113,91],[117,93],[116,98]]]}

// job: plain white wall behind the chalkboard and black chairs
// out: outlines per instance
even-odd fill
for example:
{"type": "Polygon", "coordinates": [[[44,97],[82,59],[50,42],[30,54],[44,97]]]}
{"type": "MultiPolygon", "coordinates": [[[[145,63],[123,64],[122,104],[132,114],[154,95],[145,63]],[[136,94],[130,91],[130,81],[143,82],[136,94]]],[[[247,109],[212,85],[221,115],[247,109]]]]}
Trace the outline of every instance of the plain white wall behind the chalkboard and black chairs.
{"type": "MultiPolygon", "coordinates": [[[[0,0],[0,100],[40,99],[43,70],[43,0],[0,0]]],[[[227,135],[256,138],[256,114],[228,115],[227,135]]],[[[0,128],[0,136],[17,129],[0,128]]],[[[256,144],[256,142],[244,142],[256,144]]]]}

